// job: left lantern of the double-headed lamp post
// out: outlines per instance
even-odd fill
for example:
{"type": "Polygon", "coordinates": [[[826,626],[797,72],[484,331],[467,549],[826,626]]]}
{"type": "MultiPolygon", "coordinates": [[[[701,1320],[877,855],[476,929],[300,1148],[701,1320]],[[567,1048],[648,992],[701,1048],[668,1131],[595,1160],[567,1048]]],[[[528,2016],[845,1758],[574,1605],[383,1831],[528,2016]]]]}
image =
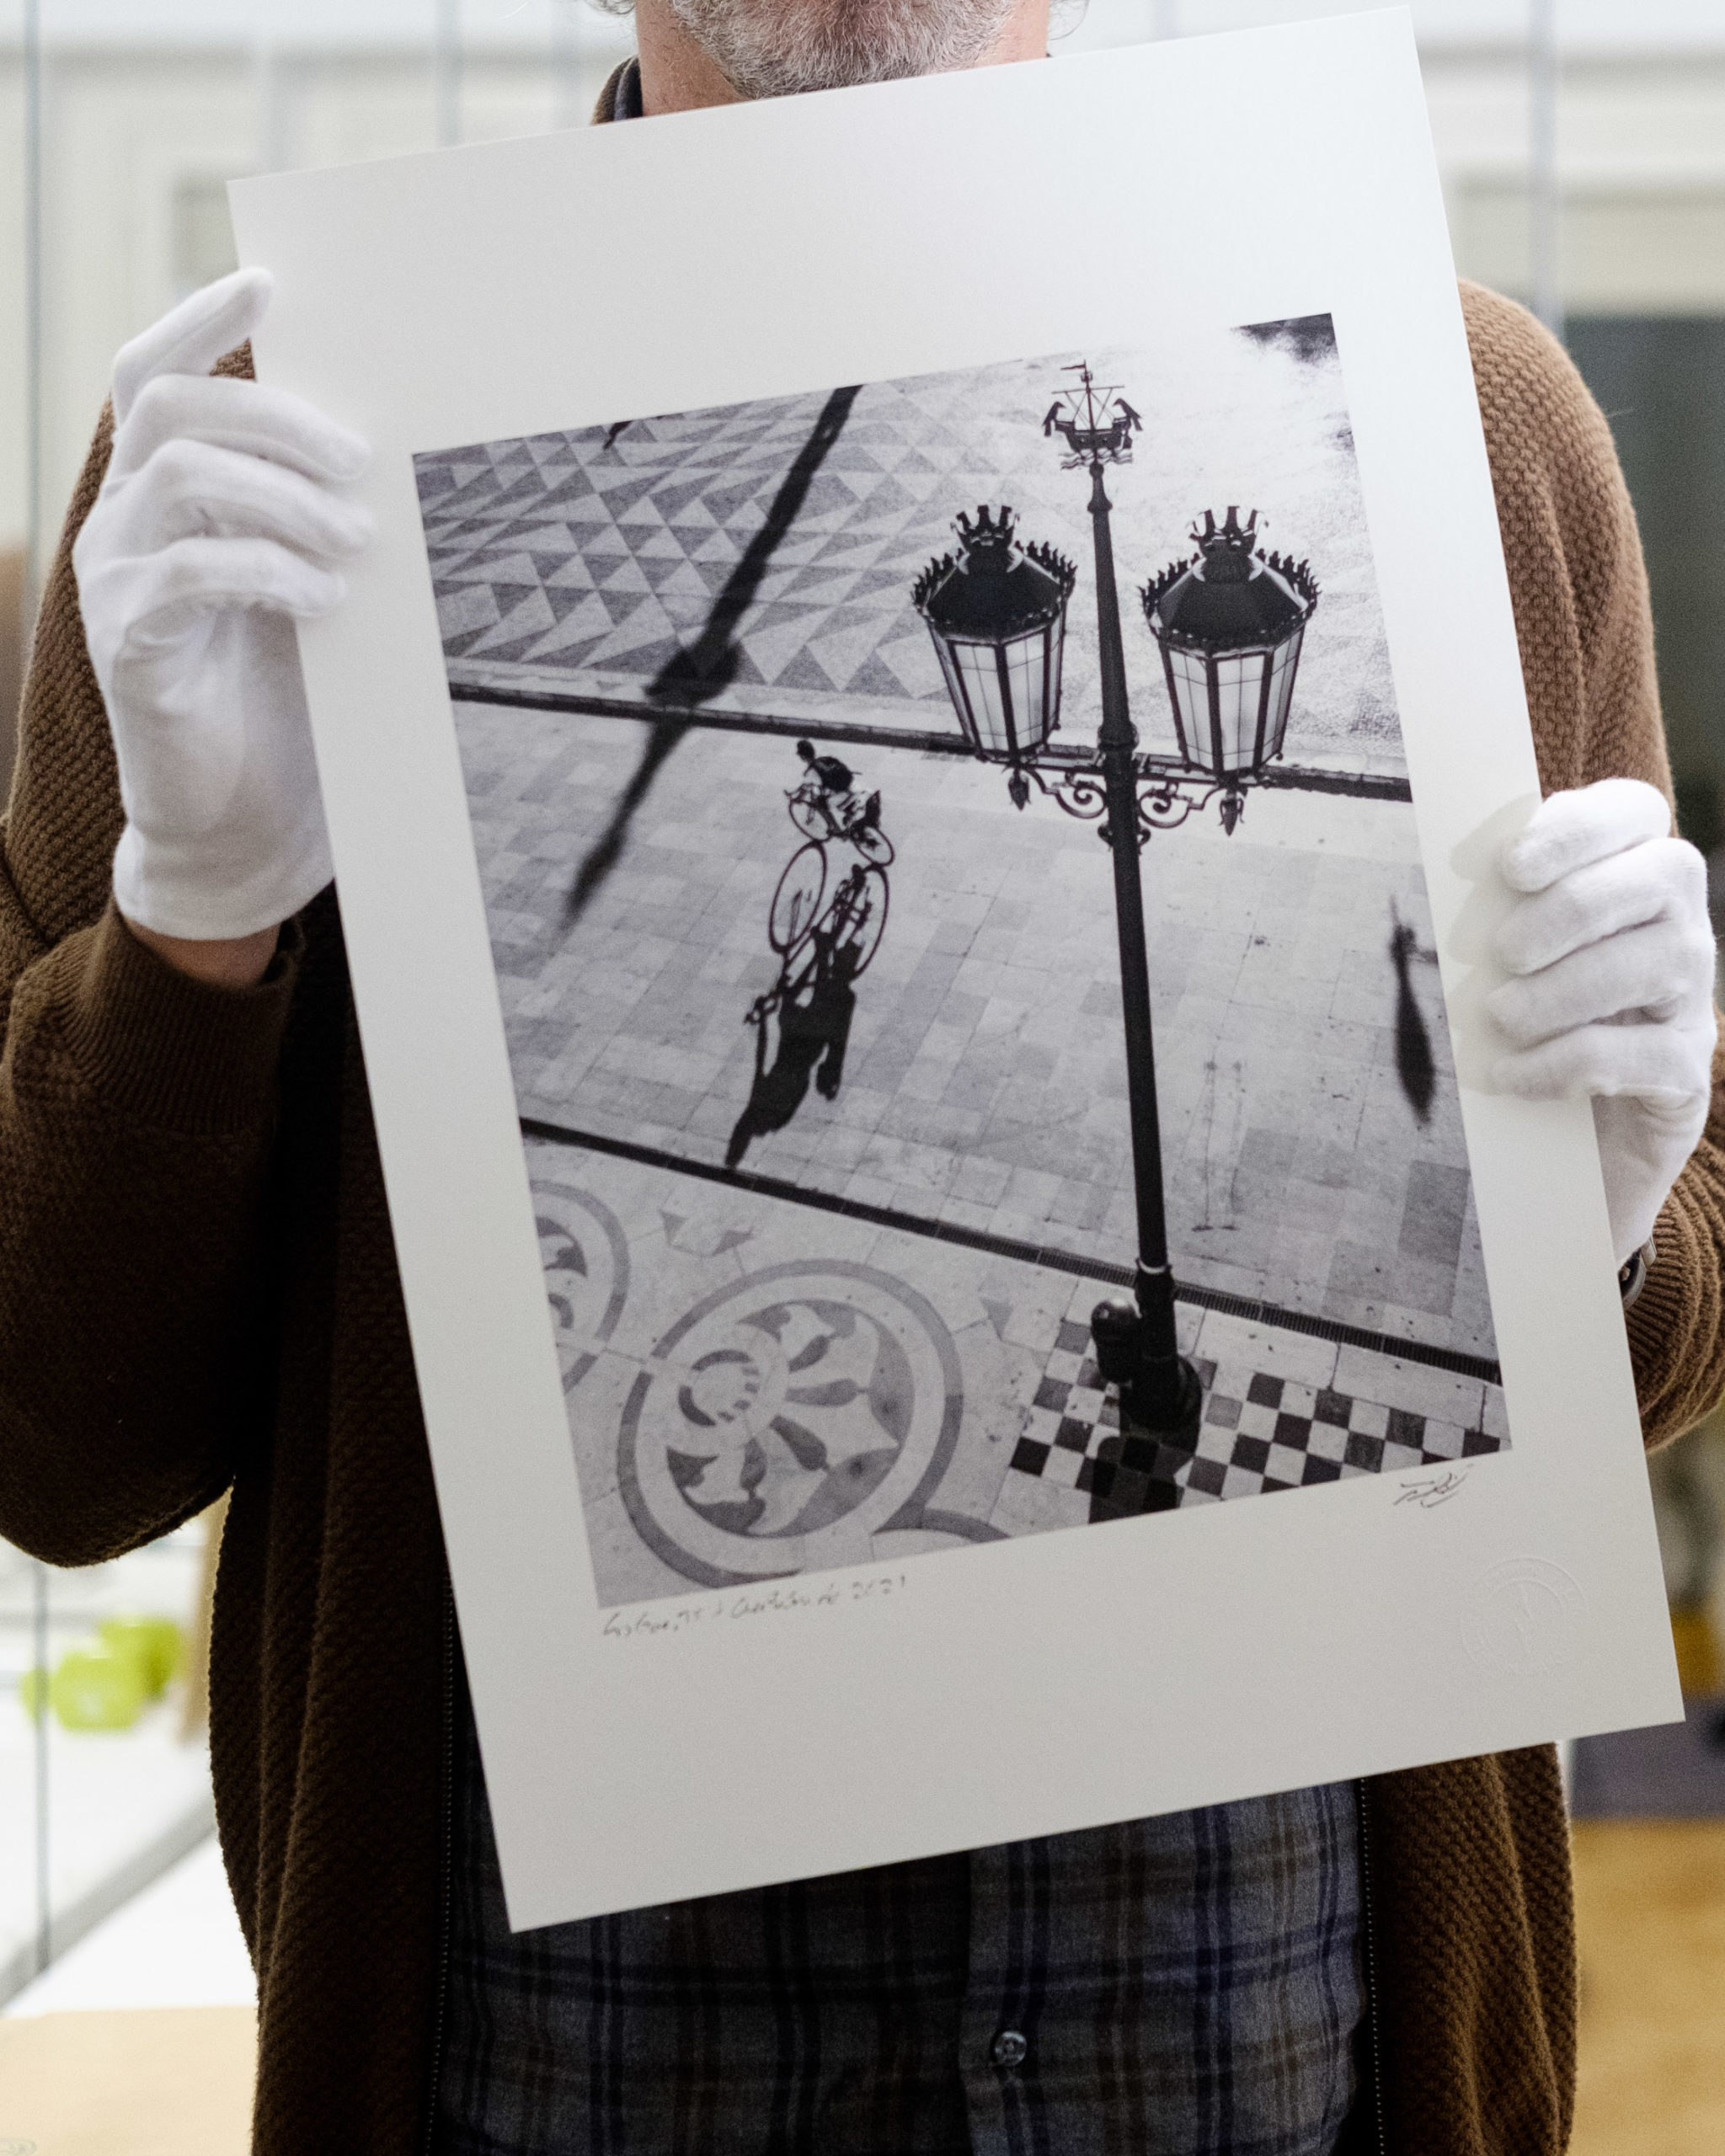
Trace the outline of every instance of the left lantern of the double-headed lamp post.
{"type": "Polygon", "coordinates": [[[912,599],[927,621],[964,737],[990,763],[1011,765],[1011,798],[1031,787],[1020,765],[1061,722],[1065,602],[1078,571],[1050,545],[1020,545],[1011,509],[977,509],[953,524],[960,556],[932,561],[912,599]]]}

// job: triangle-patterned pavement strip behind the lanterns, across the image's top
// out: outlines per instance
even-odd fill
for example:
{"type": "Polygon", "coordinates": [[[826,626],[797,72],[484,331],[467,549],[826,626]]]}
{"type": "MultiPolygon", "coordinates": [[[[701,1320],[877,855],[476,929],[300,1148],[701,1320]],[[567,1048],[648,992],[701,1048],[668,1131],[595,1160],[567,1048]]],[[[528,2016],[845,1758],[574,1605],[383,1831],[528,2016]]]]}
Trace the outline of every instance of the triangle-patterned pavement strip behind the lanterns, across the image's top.
{"type": "MultiPolygon", "coordinates": [[[[705,707],[953,737],[910,602],[953,517],[1018,511],[1078,569],[1061,733],[1100,720],[1089,479],[1044,416],[1074,356],[619,420],[416,459],[457,692],[502,701],[705,707]],[[789,505],[781,489],[798,494],[789,505]],[[776,530],[781,507],[785,520],[776,530]],[[656,688],[664,668],[666,683],[656,688]],[[692,694],[690,681],[699,683],[692,694]]],[[[1091,354],[1147,414],[1108,472],[1132,720],[1173,752],[1162,658],[1138,586],[1190,552],[1205,509],[1257,507],[1270,545],[1309,556],[1294,761],[1404,774],[1352,425],[1335,349],[1182,332],[1091,354]]]]}

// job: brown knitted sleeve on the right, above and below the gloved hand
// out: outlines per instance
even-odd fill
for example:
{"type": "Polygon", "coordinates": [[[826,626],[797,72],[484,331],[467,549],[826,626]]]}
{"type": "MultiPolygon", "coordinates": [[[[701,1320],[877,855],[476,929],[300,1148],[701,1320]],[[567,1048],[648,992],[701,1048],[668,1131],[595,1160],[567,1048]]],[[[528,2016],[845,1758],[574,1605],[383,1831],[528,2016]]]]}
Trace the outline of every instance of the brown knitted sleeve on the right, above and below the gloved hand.
{"type": "MultiPolygon", "coordinates": [[[[1611,427],[1563,347],[1477,285],[1462,313],[1492,459],[1527,705],[1546,793],[1645,778],[1671,793],[1647,571],[1611,427]]],[[[1660,1214],[1628,1315],[1647,1445],[1725,1395],[1725,1052],[1712,1115],[1660,1214]]]]}

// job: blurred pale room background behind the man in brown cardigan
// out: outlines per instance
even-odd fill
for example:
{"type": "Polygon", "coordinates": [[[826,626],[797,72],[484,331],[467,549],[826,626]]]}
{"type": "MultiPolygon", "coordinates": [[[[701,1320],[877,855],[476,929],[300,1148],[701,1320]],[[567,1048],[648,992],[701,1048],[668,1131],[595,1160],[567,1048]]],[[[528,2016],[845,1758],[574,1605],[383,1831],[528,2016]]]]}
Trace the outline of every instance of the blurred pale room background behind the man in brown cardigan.
{"type": "MultiPolygon", "coordinates": [[[[1089,0],[1057,50],[1346,11],[1089,0]]],[[[1412,15],[1458,270],[1540,313],[1617,436],[1680,817],[1725,897],[1725,0],[1412,15]]],[[[582,125],[630,50],[584,0],[0,0],[0,780],[114,349],[233,267],[226,181],[582,125]]],[[[1654,1462],[1654,1492],[1690,1712],[1570,1755],[1578,2156],[1725,2147],[1725,1423],[1654,1462]]],[[[201,1690],[218,1539],[211,1516],[52,1576],[0,1544],[4,2147],[246,2145],[252,1990],[201,1690]]]]}

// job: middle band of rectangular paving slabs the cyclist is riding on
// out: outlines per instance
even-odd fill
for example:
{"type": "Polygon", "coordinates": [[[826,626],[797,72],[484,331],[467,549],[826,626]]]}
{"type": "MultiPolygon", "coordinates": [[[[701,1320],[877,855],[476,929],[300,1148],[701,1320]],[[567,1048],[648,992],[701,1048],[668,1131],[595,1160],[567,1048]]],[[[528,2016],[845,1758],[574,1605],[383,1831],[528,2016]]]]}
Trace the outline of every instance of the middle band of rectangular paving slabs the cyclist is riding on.
{"type": "MultiPolygon", "coordinates": [[[[1091,826],[1046,800],[1016,813],[968,761],[854,752],[897,847],[884,934],[858,979],[791,992],[768,942],[802,845],[789,744],[688,731],[569,923],[647,729],[457,711],[524,1117],[1130,1259],[1091,826]]],[[[858,860],[828,856],[832,890],[858,860]]],[[[1412,811],[1257,796],[1231,839],[1210,819],[1156,837],[1145,877],[1177,1276],[1494,1356],[1412,811]],[[1410,1013],[1425,1119],[1397,1054],[1410,1013]]]]}

